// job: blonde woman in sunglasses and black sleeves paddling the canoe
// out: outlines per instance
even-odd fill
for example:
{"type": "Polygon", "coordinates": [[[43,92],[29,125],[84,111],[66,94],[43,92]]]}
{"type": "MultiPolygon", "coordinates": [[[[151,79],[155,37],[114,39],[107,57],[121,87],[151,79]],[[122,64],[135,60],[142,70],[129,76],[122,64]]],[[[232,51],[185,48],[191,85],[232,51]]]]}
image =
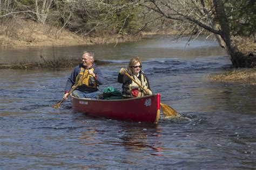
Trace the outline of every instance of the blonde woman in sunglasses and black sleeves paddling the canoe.
{"type": "Polygon", "coordinates": [[[134,57],[130,60],[127,69],[121,68],[118,74],[118,82],[123,83],[123,98],[142,97],[146,95],[152,95],[150,90],[149,80],[142,71],[142,62],[138,57],[134,57]],[[130,76],[126,75],[128,73],[130,76]],[[143,88],[140,88],[136,82],[143,88]]]}

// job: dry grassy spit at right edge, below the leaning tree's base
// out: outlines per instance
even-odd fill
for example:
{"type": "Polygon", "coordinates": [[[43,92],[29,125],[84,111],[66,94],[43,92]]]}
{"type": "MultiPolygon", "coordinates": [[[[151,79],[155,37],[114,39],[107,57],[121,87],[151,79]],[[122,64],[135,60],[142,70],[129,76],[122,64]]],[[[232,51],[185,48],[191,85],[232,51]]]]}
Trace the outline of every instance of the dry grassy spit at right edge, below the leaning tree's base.
{"type": "Polygon", "coordinates": [[[209,76],[214,81],[241,81],[256,85],[256,68],[237,69],[220,75],[209,76]]]}

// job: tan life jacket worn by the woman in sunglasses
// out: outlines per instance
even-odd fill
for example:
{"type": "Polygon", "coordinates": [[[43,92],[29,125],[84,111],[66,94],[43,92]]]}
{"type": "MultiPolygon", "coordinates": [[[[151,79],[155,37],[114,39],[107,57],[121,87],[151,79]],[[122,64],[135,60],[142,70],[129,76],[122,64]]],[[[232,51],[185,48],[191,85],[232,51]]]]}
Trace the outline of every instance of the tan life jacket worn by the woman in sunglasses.
{"type": "MultiPolygon", "coordinates": [[[[141,74],[141,73],[140,73],[140,74],[141,74]]],[[[142,87],[144,87],[144,89],[147,89],[147,88],[148,88],[146,77],[145,77],[143,74],[140,75],[140,77],[141,77],[140,80],[138,79],[138,77],[137,77],[136,75],[132,75],[132,77],[133,77],[133,79],[135,79],[138,83],[140,83],[140,85],[142,85],[142,87]]],[[[132,83],[129,84],[129,89],[130,89],[130,93],[131,93],[131,98],[146,96],[144,90],[143,90],[142,88],[139,88],[138,84],[136,84],[134,81],[132,81],[132,83]],[[138,96],[133,96],[133,94],[132,94],[132,89],[138,89],[138,90],[139,90],[138,96]]]]}

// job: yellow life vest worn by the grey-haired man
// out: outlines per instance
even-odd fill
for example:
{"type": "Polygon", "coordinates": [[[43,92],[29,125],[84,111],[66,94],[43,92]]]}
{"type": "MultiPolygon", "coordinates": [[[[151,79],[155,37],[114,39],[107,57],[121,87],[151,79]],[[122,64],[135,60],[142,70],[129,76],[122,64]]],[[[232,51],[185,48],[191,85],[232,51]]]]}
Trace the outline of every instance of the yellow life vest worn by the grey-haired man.
{"type": "MultiPolygon", "coordinates": [[[[94,68],[90,68],[90,70],[94,70],[94,68]]],[[[86,76],[89,72],[89,69],[84,69],[84,67],[80,68],[80,72],[76,77],[76,82],[78,82],[79,80],[83,79],[84,76],[86,76]]],[[[97,82],[95,81],[94,77],[89,74],[84,80],[83,82],[79,83],[80,87],[83,86],[87,86],[87,87],[91,87],[91,88],[97,88],[97,82]]],[[[78,87],[79,87],[78,86],[78,87]]]]}

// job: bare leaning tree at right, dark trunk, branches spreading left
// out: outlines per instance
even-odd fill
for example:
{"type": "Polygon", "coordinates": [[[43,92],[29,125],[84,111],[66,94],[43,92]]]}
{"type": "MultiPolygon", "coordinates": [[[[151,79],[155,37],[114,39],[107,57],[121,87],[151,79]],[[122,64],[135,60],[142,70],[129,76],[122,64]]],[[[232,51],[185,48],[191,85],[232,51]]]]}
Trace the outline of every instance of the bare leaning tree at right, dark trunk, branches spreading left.
{"type": "MultiPolygon", "coordinates": [[[[145,0],[137,1],[157,13],[156,16],[176,20],[184,25],[190,25],[191,34],[196,28],[207,30],[216,35],[220,46],[224,47],[235,67],[247,67],[251,63],[232,44],[231,29],[223,0],[145,0]]],[[[252,60],[256,61],[256,60],[252,60]]]]}

